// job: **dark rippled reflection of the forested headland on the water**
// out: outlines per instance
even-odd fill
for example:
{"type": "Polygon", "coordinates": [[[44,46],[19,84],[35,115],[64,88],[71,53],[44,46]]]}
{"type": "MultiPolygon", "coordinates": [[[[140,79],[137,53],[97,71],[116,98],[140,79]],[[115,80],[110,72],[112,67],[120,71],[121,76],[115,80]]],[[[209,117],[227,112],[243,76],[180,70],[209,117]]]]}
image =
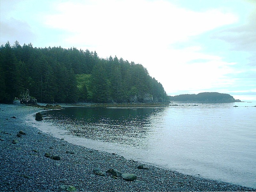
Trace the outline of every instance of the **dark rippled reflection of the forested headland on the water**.
{"type": "Polygon", "coordinates": [[[68,134],[130,146],[145,145],[151,119],[163,108],[69,107],[44,112],[44,118],[68,134]]]}

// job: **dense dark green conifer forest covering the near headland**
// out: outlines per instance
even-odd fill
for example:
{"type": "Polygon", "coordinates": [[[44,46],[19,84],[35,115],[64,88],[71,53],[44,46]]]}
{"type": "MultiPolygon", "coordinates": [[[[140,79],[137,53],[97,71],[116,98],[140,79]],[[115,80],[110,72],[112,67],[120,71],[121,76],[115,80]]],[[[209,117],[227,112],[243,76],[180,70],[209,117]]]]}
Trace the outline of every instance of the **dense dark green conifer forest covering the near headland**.
{"type": "Polygon", "coordinates": [[[162,84],[140,64],[96,52],[34,48],[32,44],[0,47],[0,103],[12,103],[29,90],[39,102],[162,102],[162,84]]]}

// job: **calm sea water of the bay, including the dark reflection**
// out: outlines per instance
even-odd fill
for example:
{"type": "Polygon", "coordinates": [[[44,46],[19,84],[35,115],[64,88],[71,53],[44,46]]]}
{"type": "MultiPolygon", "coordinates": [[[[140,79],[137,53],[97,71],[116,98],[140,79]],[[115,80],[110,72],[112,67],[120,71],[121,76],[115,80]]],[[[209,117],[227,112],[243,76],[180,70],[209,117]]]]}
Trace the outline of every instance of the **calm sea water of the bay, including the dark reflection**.
{"type": "Polygon", "coordinates": [[[50,128],[41,128],[88,148],[256,188],[256,102],[174,104],[52,110],[43,114],[50,128]]]}

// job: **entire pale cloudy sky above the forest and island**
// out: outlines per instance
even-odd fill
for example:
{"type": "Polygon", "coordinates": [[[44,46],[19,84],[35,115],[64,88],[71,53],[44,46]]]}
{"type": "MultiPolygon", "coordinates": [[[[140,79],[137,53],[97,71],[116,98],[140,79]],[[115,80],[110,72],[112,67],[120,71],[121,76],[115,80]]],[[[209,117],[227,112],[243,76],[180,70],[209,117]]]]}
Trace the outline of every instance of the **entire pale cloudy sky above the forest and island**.
{"type": "Polygon", "coordinates": [[[0,44],[142,64],[168,95],[256,101],[256,0],[1,0],[0,44]]]}

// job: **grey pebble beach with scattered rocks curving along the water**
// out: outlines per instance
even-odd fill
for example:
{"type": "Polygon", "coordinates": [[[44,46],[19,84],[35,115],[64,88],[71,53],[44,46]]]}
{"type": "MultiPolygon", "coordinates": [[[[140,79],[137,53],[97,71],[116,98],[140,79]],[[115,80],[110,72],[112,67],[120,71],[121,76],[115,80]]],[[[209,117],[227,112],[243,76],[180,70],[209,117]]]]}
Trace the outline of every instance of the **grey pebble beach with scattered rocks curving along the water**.
{"type": "Polygon", "coordinates": [[[39,111],[0,104],[0,191],[256,191],[54,138],[25,123],[39,111]]]}

